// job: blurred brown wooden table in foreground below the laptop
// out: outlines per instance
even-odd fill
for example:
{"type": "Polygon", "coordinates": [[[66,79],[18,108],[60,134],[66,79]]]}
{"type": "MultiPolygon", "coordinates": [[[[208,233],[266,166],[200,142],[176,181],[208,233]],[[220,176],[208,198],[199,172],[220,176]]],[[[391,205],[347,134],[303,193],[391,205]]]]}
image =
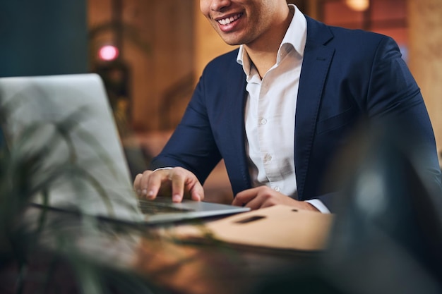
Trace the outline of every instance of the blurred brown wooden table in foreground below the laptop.
{"type": "MultiPolygon", "coordinates": [[[[47,217],[57,226],[45,228],[28,255],[23,293],[35,293],[40,288],[52,289],[43,293],[81,293],[82,271],[101,277],[103,287],[109,283],[116,288],[115,283],[125,281],[127,290],[130,283],[144,283],[155,288],[153,293],[256,293],[266,281],[311,264],[318,256],[217,241],[174,240],[165,234],[170,225],[129,226],[66,212],[49,212],[47,217]],[[92,225],[95,228],[90,229],[92,225]],[[65,244],[60,247],[61,239],[65,244]],[[90,264],[92,267],[88,267],[90,264]],[[117,278],[109,278],[109,272],[117,278]]],[[[9,262],[8,267],[0,269],[1,293],[14,293],[20,276],[17,260],[9,262]]]]}

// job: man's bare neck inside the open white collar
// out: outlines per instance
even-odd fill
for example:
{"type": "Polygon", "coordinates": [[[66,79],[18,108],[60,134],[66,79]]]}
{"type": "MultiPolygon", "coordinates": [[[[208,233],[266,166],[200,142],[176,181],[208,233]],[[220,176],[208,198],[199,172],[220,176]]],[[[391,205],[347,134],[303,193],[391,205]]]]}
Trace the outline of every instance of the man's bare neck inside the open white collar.
{"type": "Polygon", "coordinates": [[[287,11],[282,14],[280,20],[275,22],[275,25],[267,32],[267,34],[265,34],[265,36],[251,44],[244,44],[244,49],[246,49],[247,54],[249,54],[249,57],[256,66],[261,78],[273,65],[275,65],[277,51],[279,50],[282,39],[284,39],[285,33],[289,28],[293,15],[294,9],[289,9],[287,6],[287,11]]]}

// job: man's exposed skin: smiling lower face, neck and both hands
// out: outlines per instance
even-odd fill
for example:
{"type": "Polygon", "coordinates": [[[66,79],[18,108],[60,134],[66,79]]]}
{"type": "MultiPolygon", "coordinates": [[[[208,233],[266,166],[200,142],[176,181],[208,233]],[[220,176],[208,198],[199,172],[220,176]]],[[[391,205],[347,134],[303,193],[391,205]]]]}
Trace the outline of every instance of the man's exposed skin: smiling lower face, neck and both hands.
{"type": "MultiPolygon", "coordinates": [[[[286,0],[200,0],[200,8],[227,44],[244,44],[261,77],[275,64],[277,51],[294,13],[286,0]]],[[[150,200],[165,193],[167,188],[172,189],[174,202],[181,202],[185,195],[196,201],[204,199],[203,186],[198,178],[180,167],[140,173],[133,188],[140,197],[150,200]]],[[[166,194],[170,195],[170,191],[166,194]]],[[[232,204],[251,209],[285,204],[318,211],[308,202],[294,200],[267,186],[239,192],[232,204]]]]}

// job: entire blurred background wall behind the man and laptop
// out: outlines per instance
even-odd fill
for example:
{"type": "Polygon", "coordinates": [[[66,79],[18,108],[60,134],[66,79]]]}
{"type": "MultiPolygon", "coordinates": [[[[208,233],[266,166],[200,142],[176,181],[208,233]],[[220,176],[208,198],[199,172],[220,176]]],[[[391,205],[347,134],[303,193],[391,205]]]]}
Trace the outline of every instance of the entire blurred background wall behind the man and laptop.
{"type": "MultiPolygon", "coordinates": [[[[417,79],[442,149],[441,0],[289,0],[330,25],[393,37],[417,79]]],[[[199,0],[0,2],[0,76],[100,73],[136,134],[179,122],[203,68],[232,50],[199,0]],[[117,54],[101,54],[112,45],[117,54]]]]}

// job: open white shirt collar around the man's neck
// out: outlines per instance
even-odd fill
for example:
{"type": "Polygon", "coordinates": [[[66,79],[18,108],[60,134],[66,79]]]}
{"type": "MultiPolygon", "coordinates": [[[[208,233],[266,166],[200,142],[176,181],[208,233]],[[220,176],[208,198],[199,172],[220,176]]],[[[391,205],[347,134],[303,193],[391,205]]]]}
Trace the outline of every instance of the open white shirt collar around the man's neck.
{"type": "MultiPolygon", "coordinates": [[[[285,36],[282,39],[280,44],[280,49],[278,50],[277,62],[280,61],[280,57],[282,57],[282,48],[287,47],[286,44],[292,45],[292,47],[297,51],[300,56],[304,56],[304,49],[306,46],[307,39],[307,20],[304,14],[295,6],[294,4],[289,4],[290,7],[294,8],[294,15],[292,21],[290,22],[289,28],[287,32],[285,32],[285,36]]],[[[289,50],[285,49],[285,54],[289,50]]],[[[237,63],[239,63],[243,69],[244,73],[247,76],[251,73],[251,61],[247,52],[244,48],[244,45],[239,47],[237,63]]]]}

